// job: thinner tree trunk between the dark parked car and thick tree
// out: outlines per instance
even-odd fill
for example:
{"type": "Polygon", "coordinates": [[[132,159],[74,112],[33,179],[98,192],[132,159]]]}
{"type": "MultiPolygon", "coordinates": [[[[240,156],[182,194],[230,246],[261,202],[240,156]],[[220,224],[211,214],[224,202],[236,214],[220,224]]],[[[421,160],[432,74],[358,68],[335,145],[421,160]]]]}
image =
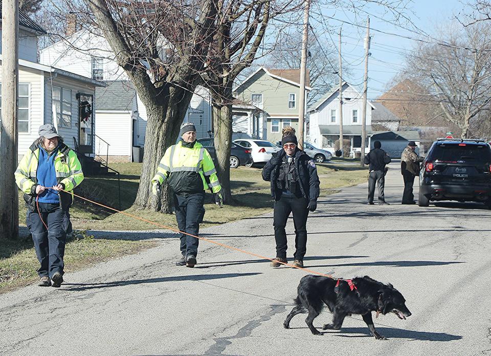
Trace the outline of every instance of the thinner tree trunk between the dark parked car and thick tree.
{"type": "MultiPolygon", "coordinates": [[[[230,86],[229,86],[230,87],[230,86]]],[[[224,203],[233,203],[230,191],[230,149],[232,146],[232,88],[223,95],[213,95],[213,130],[216,152],[216,172],[224,203]]]]}

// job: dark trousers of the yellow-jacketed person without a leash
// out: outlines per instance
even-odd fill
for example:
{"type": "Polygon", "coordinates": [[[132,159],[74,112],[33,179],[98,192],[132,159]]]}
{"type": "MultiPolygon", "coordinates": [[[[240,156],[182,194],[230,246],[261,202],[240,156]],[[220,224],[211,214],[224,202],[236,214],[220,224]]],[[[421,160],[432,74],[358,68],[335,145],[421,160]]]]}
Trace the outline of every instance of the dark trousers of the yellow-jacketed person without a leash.
{"type": "MultiPolygon", "coordinates": [[[[199,236],[199,223],[205,215],[205,192],[189,195],[174,194],[175,219],[179,231],[199,236]]],[[[198,254],[199,240],[195,237],[181,234],[181,253],[185,256],[198,254]]]]}

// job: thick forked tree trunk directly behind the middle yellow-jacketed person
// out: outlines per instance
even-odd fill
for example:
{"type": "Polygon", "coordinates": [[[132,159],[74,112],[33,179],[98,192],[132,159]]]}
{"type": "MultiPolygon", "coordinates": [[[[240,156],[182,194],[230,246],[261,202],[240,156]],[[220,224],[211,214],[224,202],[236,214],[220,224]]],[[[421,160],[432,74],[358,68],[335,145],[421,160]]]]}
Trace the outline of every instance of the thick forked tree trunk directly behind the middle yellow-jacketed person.
{"type": "Polygon", "coordinates": [[[149,96],[141,96],[148,116],[142,175],[133,207],[172,214],[172,199],[167,184],[164,183],[160,197],[155,197],[152,194],[151,180],[157,172],[157,166],[165,150],[177,140],[192,95],[192,91],[171,89],[168,95],[164,96],[163,102],[157,102],[149,96]]]}

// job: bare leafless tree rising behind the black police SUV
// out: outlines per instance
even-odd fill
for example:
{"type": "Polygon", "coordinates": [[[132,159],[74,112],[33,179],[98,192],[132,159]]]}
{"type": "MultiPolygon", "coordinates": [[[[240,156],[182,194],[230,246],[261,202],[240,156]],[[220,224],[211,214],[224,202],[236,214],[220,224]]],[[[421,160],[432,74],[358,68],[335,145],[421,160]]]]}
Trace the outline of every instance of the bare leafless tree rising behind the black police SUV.
{"type": "Polygon", "coordinates": [[[428,88],[443,118],[469,136],[471,120],[491,102],[491,28],[485,24],[442,33],[442,44],[420,43],[407,57],[412,75],[428,88]]]}

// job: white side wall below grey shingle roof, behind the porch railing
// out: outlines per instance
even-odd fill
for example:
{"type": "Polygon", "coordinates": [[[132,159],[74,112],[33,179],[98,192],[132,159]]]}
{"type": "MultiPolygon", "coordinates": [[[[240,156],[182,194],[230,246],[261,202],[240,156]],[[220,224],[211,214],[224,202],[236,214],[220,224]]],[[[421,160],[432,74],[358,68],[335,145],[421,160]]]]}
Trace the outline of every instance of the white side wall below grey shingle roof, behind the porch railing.
{"type": "MultiPolygon", "coordinates": [[[[131,113],[97,112],[97,136],[109,143],[109,156],[131,157],[131,113]]],[[[105,159],[107,145],[96,137],[96,154],[105,159]]]]}

